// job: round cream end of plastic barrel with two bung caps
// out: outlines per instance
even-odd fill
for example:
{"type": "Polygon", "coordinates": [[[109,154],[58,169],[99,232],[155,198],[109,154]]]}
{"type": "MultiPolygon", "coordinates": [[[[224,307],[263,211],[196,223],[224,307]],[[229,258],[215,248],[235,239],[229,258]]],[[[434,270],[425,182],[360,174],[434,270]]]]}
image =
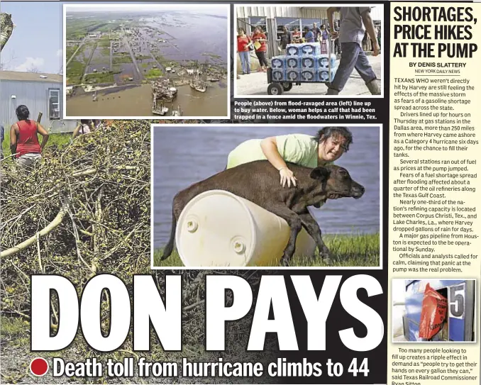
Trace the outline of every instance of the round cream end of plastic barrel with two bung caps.
{"type": "Polygon", "coordinates": [[[243,200],[228,191],[211,190],[184,207],[175,241],[186,267],[245,267],[255,250],[255,236],[243,200]]]}

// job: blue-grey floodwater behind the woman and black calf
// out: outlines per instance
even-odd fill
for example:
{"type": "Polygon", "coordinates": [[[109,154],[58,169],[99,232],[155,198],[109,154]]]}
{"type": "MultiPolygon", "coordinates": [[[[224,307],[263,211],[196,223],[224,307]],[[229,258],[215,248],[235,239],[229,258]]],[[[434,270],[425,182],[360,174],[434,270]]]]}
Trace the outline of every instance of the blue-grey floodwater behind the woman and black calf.
{"type": "MultiPolygon", "coordinates": [[[[164,247],[172,225],[172,199],[178,191],[221,172],[228,153],[245,140],[288,133],[315,135],[321,127],[223,125],[157,126],[153,143],[153,242],[164,247]]],[[[350,127],[353,145],[336,164],[365,186],[361,199],[327,201],[312,208],[326,234],[380,231],[380,129],[350,127]]]]}

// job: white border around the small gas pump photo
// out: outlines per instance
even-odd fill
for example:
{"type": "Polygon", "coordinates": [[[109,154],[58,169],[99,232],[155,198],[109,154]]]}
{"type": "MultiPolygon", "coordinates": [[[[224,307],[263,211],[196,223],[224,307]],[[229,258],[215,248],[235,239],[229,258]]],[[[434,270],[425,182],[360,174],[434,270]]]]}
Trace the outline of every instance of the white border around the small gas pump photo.
{"type": "MultiPolygon", "coordinates": [[[[445,287],[449,287],[449,286],[445,286],[445,287]]],[[[404,289],[406,288],[406,286],[404,285],[404,289]]],[[[448,345],[448,344],[477,344],[477,331],[479,329],[479,326],[477,325],[477,295],[479,293],[479,290],[477,289],[477,278],[463,278],[463,277],[459,277],[459,278],[443,278],[443,277],[440,277],[440,278],[436,278],[436,277],[424,277],[424,278],[391,278],[390,281],[389,281],[389,287],[388,287],[388,291],[389,289],[391,290],[391,298],[389,298],[389,306],[390,306],[390,316],[391,316],[391,330],[390,330],[390,333],[391,333],[391,343],[392,345],[400,345],[400,344],[424,344],[424,345],[432,345],[432,344],[436,344],[436,346],[438,346],[438,344],[440,345],[448,345]],[[473,307],[473,320],[472,320],[472,327],[475,329],[475,340],[474,341],[394,341],[394,323],[392,322],[392,313],[393,313],[393,310],[394,310],[394,301],[392,300],[392,296],[394,295],[394,290],[392,290],[392,281],[395,280],[402,280],[402,281],[407,281],[409,279],[416,279],[416,280],[419,280],[419,281],[423,281],[423,280],[428,280],[428,279],[439,279],[441,281],[474,281],[475,282],[475,289],[474,289],[474,293],[475,293],[475,302],[472,304],[472,307],[473,307]]],[[[405,290],[404,290],[405,292],[405,290]]],[[[421,294],[421,293],[420,293],[421,294]]],[[[404,305],[405,306],[405,305],[404,305]]],[[[389,323],[389,309],[388,309],[388,319],[387,319],[387,323],[389,323]]],[[[404,333],[404,329],[403,329],[403,333],[404,333]]],[[[404,334],[403,334],[404,335],[404,334]]]]}

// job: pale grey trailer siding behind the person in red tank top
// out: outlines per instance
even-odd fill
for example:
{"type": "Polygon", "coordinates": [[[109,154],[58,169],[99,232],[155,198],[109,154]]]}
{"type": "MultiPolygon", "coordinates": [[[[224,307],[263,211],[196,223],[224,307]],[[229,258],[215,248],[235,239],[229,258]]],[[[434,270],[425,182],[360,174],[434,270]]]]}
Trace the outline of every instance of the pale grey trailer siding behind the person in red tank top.
{"type": "MultiPolygon", "coordinates": [[[[48,89],[60,89],[60,117],[62,117],[62,84],[57,82],[21,82],[11,80],[0,81],[0,122],[6,130],[17,121],[15,109],[24,104],[30,111],[30,117],[37,119],[38,113],[43,113],[42,123],[46,129],[52,126],[52,133],[59,132],[62,125],[54,124],[48,116],[48,89]],[[15,95],[16,99],[11,96],[15,95]]],[[[63,125],[62,130],[72,132],[76,121],[63,125]],[[73,128],[70,128],[73,126],[73,128]],[[67,128],[65,128],[67,127],[67,128]]]]}

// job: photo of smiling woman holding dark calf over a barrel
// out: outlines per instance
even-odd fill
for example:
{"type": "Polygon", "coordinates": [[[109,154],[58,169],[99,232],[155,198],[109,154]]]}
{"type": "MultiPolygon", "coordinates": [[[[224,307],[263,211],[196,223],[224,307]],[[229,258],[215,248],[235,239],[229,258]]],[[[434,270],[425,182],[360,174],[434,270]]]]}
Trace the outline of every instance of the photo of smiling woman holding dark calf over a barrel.
{"type": "Polygon", "coordinates": [[[154,269],[380,266],[380,126],[151,135],[154,269]]]}

